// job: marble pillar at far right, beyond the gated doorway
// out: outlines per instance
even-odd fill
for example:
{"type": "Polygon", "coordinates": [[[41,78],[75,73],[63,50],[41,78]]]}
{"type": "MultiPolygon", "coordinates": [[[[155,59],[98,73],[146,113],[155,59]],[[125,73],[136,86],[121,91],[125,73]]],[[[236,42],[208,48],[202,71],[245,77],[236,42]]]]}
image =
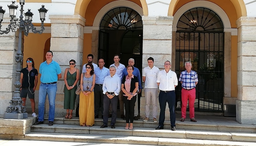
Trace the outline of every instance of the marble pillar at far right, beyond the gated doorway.
{"type": "Polygon", "coordinates": [[[256,18],[240,17],[236,21],[237,100],[236,120],[241,124],[256,124],[256,18]]]}

